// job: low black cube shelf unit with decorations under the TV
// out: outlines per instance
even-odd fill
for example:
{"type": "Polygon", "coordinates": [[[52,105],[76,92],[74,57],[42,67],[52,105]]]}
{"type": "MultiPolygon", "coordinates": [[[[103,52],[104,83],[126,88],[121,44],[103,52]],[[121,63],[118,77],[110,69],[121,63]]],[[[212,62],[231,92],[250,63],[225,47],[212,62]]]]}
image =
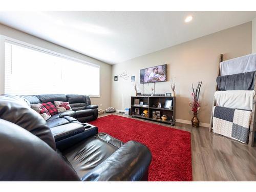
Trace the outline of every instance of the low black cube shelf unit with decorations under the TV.
{"type": "Polygon", "coordinates": [[[166,96],[132,96],[131,116],[175,125],[175,99],[176,97],[166,96]],[[170,102],[170,100],[172,100],[172,109],[164,108],[165,102],[170,102]],[[141,106],[142,102],[144,106],[141,106]],[[161,108],[158,108],[159,103],[161,103],[161,108]],[[148,111],[147,117],[141,115],[144,110],[148,111]],[[167,116],[167,120],[162,120],[163,115],[167,116]]]}

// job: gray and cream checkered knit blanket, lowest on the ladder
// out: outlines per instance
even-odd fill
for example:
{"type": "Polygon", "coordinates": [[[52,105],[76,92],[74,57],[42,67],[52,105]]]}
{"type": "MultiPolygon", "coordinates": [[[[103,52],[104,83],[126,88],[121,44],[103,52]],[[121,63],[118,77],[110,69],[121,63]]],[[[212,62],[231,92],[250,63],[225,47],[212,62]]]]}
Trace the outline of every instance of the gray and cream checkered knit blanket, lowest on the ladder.
{"type": "Polygon", "coordinates": [[[251,111],[215,106],[212,119],[214,133],[248,143],[251,111]]]}

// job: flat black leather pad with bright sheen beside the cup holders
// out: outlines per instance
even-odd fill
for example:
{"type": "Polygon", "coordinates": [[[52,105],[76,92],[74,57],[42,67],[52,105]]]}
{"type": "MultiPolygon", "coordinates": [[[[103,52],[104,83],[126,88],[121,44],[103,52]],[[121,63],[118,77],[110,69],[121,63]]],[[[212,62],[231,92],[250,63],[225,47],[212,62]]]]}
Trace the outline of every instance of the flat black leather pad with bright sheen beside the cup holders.
{"type": "Polygon", "coordinates": [[[79,123],[69,123],[51,128],[55,141],[66,139],[84,131],[84,126],[79,123]]]}

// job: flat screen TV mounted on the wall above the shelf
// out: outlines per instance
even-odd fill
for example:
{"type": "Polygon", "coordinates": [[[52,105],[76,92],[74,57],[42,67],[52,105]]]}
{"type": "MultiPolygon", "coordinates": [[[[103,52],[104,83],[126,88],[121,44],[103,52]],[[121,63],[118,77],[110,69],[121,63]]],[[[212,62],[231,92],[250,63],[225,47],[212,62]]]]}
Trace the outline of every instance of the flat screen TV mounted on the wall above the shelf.
{"type": "Polygon", "coordinates": [[[166,81],[167,64],[140,70],[140,83],[166,81]]]}

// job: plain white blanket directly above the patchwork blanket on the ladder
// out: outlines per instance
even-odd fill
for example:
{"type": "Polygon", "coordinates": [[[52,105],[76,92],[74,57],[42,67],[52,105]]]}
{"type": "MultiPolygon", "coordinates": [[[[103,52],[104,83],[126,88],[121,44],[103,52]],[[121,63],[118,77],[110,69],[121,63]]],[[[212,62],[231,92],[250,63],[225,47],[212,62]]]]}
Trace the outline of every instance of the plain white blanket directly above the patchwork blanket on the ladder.
{"type": "Polygon", "coordinates": [[[225,108],[252,110],[255,91],[216,91],[215,101],[217,106],[225,108]]]}

